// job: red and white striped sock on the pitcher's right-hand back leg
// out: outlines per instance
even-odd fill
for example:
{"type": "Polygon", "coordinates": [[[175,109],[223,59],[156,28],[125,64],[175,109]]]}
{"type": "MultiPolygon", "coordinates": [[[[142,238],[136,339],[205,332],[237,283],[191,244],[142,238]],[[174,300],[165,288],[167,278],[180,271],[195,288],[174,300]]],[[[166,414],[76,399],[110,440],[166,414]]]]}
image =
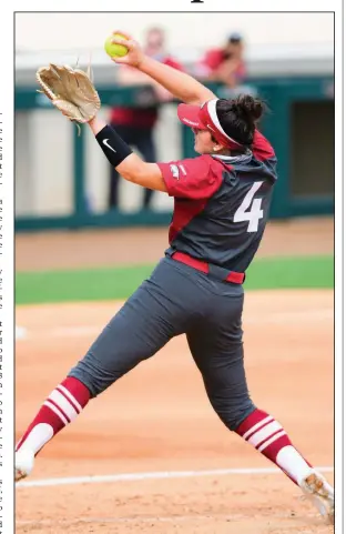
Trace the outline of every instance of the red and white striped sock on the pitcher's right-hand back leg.
{"type": "Polygon", "coordinates": [[[311,473],[312,465],[292,445],[282,425],[262,410],[250,414],[235,432],[276,464],[295,484],[311,473]]]}

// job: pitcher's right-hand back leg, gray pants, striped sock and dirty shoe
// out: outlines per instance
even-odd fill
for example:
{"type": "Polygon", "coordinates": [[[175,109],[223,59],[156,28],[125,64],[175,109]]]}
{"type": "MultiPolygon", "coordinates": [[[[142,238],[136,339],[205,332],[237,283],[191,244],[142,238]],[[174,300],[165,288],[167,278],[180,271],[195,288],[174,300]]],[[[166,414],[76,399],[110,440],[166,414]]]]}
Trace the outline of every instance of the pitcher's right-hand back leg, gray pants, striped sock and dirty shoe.
{"type": "MultiPolygon", "coordinates": [[[[305,493],[315,497],[324,515],[334,516],[334,491],[306,462],[278,421],[250,399],[242,341],[243,299],[218,299],[211,315],[187,334],[212,406],[223,423],[276,464],[305,493]]],[[[211,305],[213,303],[211,302],[211,305]]]]}

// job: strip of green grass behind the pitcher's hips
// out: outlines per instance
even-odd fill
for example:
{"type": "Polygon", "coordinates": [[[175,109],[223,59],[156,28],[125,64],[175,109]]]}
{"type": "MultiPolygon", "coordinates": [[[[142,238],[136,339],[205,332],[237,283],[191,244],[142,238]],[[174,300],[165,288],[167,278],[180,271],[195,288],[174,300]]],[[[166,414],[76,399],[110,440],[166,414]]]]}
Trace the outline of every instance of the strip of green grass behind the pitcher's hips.
{"type": "MultiPolygon", "coordinates": [[[[153,265],[75,271],[19,272],[16,303],[77,302],[126,299],[150,275],[153,265]]],[[[333,256],[256,260],[247,271],[245,288],[333,288],[333,256]]]]}

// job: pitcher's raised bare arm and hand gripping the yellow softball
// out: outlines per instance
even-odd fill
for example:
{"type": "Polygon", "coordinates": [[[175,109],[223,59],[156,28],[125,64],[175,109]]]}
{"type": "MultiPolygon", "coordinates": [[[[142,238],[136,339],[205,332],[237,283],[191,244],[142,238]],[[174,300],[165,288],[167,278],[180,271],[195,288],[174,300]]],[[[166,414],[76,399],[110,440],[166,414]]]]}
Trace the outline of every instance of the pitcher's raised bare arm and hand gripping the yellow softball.
{"type": "MultiPolygon", "coordinates": [[[[123,31],[116,31],[114,33],[121,33],[129,39],[126,41],[129,53],[122,58],[112,58],[115,63],[129,64],[139,69],[164,87],[175,98],[189,104],[200,105],[207,100],[216,98],[210,89],[190,74],[145,56],[140,44],[123,31]]],[[[114,38],[113,43],[124,44],[124,41],[114,38]]]]}

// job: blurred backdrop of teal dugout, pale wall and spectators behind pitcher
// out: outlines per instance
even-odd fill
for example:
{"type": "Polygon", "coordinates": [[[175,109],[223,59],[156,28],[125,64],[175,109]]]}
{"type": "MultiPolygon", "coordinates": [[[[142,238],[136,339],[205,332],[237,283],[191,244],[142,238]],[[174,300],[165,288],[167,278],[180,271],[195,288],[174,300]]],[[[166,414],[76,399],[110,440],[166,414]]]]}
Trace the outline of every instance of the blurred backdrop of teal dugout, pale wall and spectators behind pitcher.
{"type": "MultiPolygon", "coordinates": [[[[44,229],[45,223],[78,226],[85,221],[113,225],[115,214],[167,213],[172,209],[172,199],[163,193],[124,183],[90,135],[83,132],[78,138],[77,129],[37,92],[34,73],[42,64],[75,64],[78,60],[85,68],[91,58],[104,118],[144,160],[194,155],[190,132],[176,120],[172,95],[135,69],[110,62],[103,50],[110,33],[105,17],[17,13],[19,230],[44,229]],[[80,28],[85,27],[81,36],[77,36],[75,18],[80,28]],[[37,32],[30,33],[29,27],[37,32]],[[57,32],[48,28],[57,28],[57,32]],[[63,36],[58,34],[61,28],[63,36]],[[44,218],[45,222],[40,221],[44,218]]],[[[274,144],[281,165],[273,216],[333,212],[332,13],[112,13],[112,24],[115,21],[124,31],[133,29],[149,56],[210,84],[220,98],[246,92],[266,100],[269,113],[261,128],[274,144]],[[316,159],[316,145],[323,147],[323,161],[316,159]]]]}

